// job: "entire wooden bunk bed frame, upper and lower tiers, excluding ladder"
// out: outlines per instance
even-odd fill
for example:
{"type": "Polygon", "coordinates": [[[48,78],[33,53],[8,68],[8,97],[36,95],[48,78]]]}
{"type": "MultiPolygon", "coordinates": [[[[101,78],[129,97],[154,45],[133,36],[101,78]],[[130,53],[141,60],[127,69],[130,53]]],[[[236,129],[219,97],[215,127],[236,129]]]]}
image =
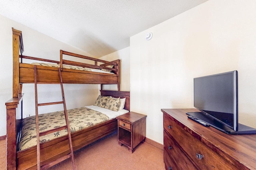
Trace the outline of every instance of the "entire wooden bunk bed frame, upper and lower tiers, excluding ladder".
{"type": "MultiPolygon", "coordinates": [[[[13,98],[6,102],[6,113],[7,113],[7,169],[36,169],[36,146],[30,147],[25,150],[17,151],[17,136],[18,131],[22,125],[22,83],[34,83],[34,65],[20,63],[19,50],[22,51],[22,34],[21,31],[13,29],[13,98]],[[17,119],[18,117],[18,119],[17,119]]],[[[64,52],[65,54],[86,58],[90,57],[76,55],[73,53],[64,52]]],[[[63,51],[61,51],[61,56],[63,51]]],[[[22,56],[22,58],[36,59],[34,57],[22,56]]],[[[114,98],[126,98],[124,109],[130,110],[130,92],[122,92],[120,90],[120,60],[113,62],[102,61],[98,59],[92,59],[95,64],[82,64],[77,62],[70,62],[62,60],[58,63],[62,69],[62,81],[63,83],[70,84],[118,84],[118,91],[100,90],[102,96],[112,96],[114,98]],[[97,66],[97,63],[104,63],[97,66]],[[62,64],[72,64],[74,66],[82,66],[88,68],[104,68],[109,69],[105,66],[110,64],[114,65],[112,70],[115,74],[98,73],[90,71],[80,71],[62,68],[62,64]],[[111,76],[110,76],[111,75],[111,76]],[[82,79],[82,80],[81,80],[82,79]]],[[[41,61],[46,61],[42,59],[41,61]]],[[[52,61],[48,61],[52,62],[52,61]]],[[[59,83],[58,68],[49,66],[37,66],[38,69],[38,81],[42,84],[54,84],[59,83]],[[40,70],[40,71],[39,71],[40,70]],[[49,76],[50,75],[50,76],[49,76]]],[[[96,124],[92,127],[82,129],[71,133],[72,145],[74,150],[78,150],[106,135],[117,130],[117,120],[110,119],[102,123],[96,124]]],[[[41,164],[47,164],[52,162],[64,154],[69,152],[68,136],[58,137],[51,141],[40,144],[41,152],[41,164]]]]}

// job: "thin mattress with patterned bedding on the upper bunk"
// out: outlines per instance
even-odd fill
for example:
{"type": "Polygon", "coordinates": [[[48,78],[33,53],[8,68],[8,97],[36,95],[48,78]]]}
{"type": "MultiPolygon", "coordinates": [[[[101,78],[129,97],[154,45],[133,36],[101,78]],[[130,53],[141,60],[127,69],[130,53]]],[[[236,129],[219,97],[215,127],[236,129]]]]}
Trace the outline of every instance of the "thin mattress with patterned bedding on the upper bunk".
{"type": "MultiPolygon", "coordinates": [[[[40,65],[40,66],[50,66],[50,67],[60,67],[59,64],[51,64],[51,63],[31,63],[34,65],[40,65]]],[[[107,72],[101,70],[101,69],[94,69],[94,68],[84,68],[84,67],[79,67],[79,66],[69,66],[69,65],[62,65],[63,68],[68,68],[68,69],[72,69],[72,70],[83,70],[83,71],[92,71],[92,72],[101,72],[101,73],[107,73],[107,74],[114,74],[113,72],[107,72]]]]}

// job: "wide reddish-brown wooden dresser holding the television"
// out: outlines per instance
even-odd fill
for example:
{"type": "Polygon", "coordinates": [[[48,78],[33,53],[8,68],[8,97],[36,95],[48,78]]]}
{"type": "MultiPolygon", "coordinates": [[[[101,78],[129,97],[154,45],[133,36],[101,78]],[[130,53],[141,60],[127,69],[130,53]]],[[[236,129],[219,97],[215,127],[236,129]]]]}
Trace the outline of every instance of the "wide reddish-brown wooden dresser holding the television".
{"type": "Polygon", "coordinates": [[[228,135],[188,119],[197,109],[161,109],[166,170],[256,170],[256,135],[228,135]]]}

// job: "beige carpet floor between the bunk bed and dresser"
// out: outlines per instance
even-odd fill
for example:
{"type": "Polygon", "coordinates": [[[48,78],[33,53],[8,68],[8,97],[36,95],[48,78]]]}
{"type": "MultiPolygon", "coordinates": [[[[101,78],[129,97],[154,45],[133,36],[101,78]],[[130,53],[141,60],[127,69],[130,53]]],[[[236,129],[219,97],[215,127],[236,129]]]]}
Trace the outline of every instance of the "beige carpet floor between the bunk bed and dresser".
{"type": "MultiPolygon", "coordinates": [[[[118,145],[117,133],[74,152],[77,170],[164,170],[163,150],[141,143],[133,153],[118,145]]],[[[49,170],[70,170],[67,159],[49,170]]],[[[0,141],[0,170],[6,169],[6,141],[0,141]]]]}

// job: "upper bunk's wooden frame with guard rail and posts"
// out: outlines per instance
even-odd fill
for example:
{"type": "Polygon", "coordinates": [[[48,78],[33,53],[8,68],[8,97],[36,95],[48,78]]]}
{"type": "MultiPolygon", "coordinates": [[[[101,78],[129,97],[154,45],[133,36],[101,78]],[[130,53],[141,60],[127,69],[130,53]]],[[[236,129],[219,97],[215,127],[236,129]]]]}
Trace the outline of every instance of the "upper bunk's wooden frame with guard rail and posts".
{"type": "MultiPolygon", "coordinates": [[[[41,59],[36,57],[29,57],[20,55],[23,52],[22,32],[12,28],[12,42],[13,42],[13,98],[17,98],[21,94],[22,83],[34,83],[34,64],[22,63],[22,59],[31,59],[36,61],[44,61],[50,63],[60,64],[62,70],[62,81],[66,84],[101,84],[103,90],[104,84],[117,84],[118,91],[120,91],[120,60],[104,61],[94,59],[84,55],[70,53],[60,50],[60,61],[41,59]],[[89,63],[80,63],[70,60],[64,60],[63,55],[68,55],[80,59],[86,59],[89,63]],[[102,63],[102,64],[100,64],[102,63]],[[63,64],[80,66],[86,68],[106,69],[111,70],[114,74],[92,72],[84,70],[73,70],[63,68],[63,64]],[[98,65],[100,64],[100,65],[98,65]],[[113,68],[107,66],[114,65],[113,68]]],[[[37,82],[41,84],[60,83],[58,76],[58,68],[50,66],[37,66],[38,79],[37,82]]]]}

